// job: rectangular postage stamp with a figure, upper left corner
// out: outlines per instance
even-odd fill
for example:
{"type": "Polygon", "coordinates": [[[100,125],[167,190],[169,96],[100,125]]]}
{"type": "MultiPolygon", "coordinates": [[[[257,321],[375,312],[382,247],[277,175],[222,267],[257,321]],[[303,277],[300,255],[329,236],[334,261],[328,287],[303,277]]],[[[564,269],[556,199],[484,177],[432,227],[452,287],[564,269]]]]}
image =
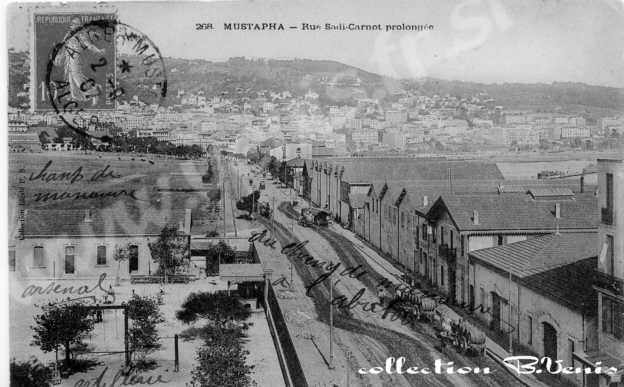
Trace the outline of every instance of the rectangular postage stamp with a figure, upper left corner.
{"type": "Polygon", "coordinates": [[[115,82],[116,40],[110,21],[116,15],[35,13],[33,18],[34,109],[58,112],[65,104],[79,103],[85,109],[114,109],[106,95],[111,94],[107,81],[115,82]]]}

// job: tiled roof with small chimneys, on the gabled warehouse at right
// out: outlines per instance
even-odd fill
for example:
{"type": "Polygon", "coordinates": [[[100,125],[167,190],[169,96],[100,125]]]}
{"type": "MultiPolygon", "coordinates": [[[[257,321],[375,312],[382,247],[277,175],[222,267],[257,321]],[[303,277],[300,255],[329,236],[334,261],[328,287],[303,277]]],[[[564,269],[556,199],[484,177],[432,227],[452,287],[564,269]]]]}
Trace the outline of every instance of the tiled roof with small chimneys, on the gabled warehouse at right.
{"type": "Polygon", "coordinates": [[[598,226],[598,201],[592,193],[577,193],[574,199],[533,200],[529,195],[442,195],[428,212],[435,219],[446,208],[461,231],[592,229],[598,226]],[[555,217],[556,203],[560,219],[555,217]],[[473,220],[474,211],[479,221],[473,220]]]}

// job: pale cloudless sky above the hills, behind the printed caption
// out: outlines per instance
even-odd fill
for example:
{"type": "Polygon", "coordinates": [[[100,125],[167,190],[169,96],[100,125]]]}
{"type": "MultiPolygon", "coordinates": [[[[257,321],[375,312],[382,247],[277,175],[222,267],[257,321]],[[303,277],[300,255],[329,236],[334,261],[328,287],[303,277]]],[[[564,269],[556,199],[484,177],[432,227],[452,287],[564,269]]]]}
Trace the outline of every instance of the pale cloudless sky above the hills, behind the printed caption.
{"type": "MultiPolygon", "coordinates": [[[[166,57],[329,59],[400,78],[624,87],[624,0],[108,4],[117,9],[120,21],[149,36],[166,57]],[[223,23],[230,22],[283,23],[286,31],[225,31],[223,23]],[[196,23],[212,23],[215,29],[196,30],[196,23]],[[431,24],[433,30],[288,29],[301,23],[431,24]]],[[[28,48],[32,8],[20,5],[8,10],[9,47],[28,48]]]]}

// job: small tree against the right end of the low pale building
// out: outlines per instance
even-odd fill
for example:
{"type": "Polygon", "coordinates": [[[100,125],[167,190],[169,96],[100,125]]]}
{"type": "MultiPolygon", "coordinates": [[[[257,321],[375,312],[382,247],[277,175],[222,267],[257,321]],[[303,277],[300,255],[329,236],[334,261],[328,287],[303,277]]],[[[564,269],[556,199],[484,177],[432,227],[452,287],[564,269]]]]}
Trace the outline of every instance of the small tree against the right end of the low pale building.
{"type": "Polygon", "coordinates": [[[161,275],[174,274],[177,268],[188,264],[188,238],[175,225],[163,227],[158,240],[149,247],[161,275]]]}

